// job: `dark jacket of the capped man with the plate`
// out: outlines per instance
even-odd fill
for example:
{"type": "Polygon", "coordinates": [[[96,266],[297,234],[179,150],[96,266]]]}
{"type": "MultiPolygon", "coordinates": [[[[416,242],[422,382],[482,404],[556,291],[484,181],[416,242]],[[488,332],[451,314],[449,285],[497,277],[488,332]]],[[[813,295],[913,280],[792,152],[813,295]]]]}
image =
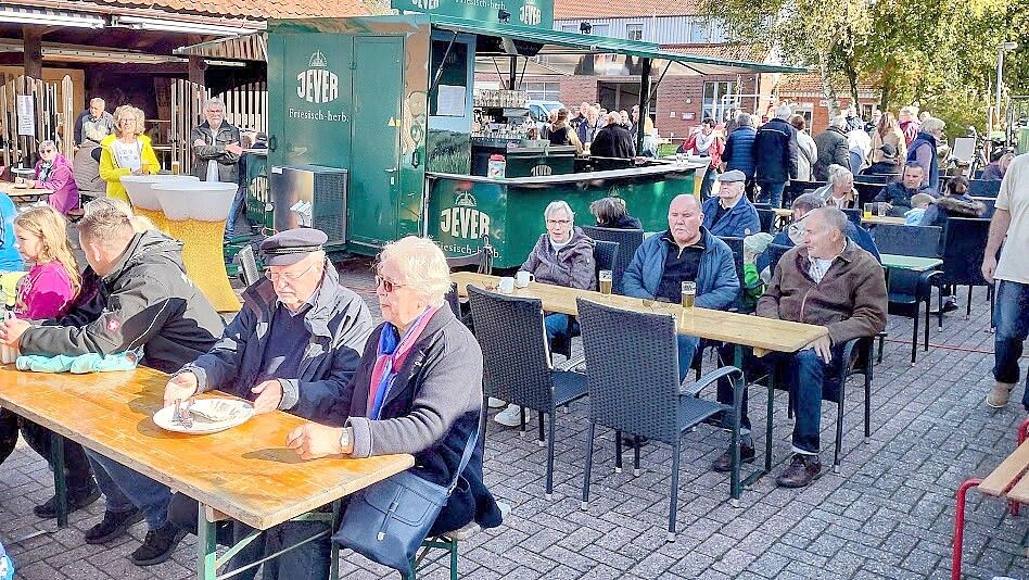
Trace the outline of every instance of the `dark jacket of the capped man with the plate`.
{"type": "MultiPolygon", "coordinates": [[[[225,329],[221,339],[176,375],[196,375],[200,392],[221,389],[243,399],[254,399],[250,390],[264,369],[264,352],[277,300],[271,281],[265,278],[247,288],[243,292],[243,308],[225,329]]],[[[312,340],[304,351],[298,377],[279,378],[282,384],[279,408],[315,421],[342,425],[344,417],[328,415],[326,405],[298,403],[302,392],[305,402],[341,396],[373,328],[365,301],[340,283],[328,260],[315,302],[304,315],[304,326],[312,333],[312,340]]]]}

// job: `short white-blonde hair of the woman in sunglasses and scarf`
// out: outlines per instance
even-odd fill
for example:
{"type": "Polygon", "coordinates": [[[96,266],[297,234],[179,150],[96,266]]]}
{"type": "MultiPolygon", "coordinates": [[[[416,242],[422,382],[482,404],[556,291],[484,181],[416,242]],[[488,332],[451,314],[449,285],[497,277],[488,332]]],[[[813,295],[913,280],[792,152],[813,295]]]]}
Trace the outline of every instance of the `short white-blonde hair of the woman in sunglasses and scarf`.
{"type": "Polygon", "coordinates": [[[404,276],[404,283],[440,306],[450,291],[453,280],[443,250],[429,238],[407,236],[388,243],[379,254],[379,263],[393,263],[404,276]]]}

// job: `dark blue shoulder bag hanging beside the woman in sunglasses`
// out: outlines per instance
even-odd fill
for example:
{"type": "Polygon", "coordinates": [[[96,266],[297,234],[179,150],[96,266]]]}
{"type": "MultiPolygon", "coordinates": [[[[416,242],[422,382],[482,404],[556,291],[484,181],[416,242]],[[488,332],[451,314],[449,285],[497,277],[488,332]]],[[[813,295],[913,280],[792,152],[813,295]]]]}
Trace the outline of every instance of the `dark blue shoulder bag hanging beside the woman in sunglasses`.
{"type": "Polygon", "coordinates": [[[479,442],[481,423],[468,438],[460,466],[448,488],[427,481],[410,470],[373,483],[351,497],[332,540],[399,571],[405,578],[412,576],[411,559],[460,481],[479,442]]]}

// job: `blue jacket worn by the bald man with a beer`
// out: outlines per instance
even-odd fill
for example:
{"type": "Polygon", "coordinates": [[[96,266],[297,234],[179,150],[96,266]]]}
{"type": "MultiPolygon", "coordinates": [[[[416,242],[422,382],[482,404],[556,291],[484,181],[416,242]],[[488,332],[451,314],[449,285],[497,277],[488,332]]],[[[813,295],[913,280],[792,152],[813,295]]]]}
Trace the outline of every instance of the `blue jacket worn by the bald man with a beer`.
{"type": "MultiPolygon", "coordinates": [[[[724,241],[712,236],[708,228],[701,226],[700,234],[704,251],[700,256],[700,269],[697,270],[696,305],[724,311],[739,294],[733,251],[724,241]]],[[[652,299],[661,285],[668,253],[669,242],[664,241],[663,234],[655,234],[644,240],[622,277],[625,295],[652,299]]]]}

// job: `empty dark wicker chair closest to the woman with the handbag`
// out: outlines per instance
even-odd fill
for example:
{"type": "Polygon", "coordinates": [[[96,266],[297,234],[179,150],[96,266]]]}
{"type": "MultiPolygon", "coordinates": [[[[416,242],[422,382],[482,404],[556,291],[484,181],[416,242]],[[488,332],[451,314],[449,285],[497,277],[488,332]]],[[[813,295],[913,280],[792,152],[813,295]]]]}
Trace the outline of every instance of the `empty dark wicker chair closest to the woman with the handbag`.
{"type": "Polygon", "coordinates": [[[554,369],[545,345],[543,303],[536,299],[514,298],[468,287],[475,338],[482,346],[483,405],[490,396],[539,413],[541,440],[543,415],[549,415],[547,441],[546,496],[554,493],[554,431],[557,407],[586,395],[586,377],[579,373],[554,369]]]}

